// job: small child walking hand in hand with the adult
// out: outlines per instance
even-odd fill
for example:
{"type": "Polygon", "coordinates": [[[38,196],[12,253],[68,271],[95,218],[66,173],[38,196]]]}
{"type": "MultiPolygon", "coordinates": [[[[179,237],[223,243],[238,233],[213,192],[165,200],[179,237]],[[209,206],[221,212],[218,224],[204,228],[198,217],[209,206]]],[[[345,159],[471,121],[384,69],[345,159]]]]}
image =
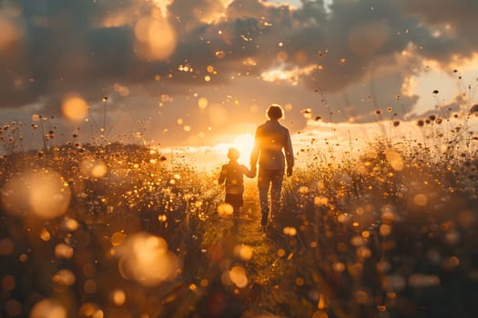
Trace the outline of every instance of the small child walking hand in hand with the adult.
{"type": "Polygon", "coordinates": [[[239,150],[229,148],[229,163],[224,164],[220,170],[219,184],[226,185],[226,204],[232,205],[234,217],[239,217],[240,207],[243,204],[244,175],[253,178],[256,174],[249,171],[244,164],[239,164],[239,150]]]}

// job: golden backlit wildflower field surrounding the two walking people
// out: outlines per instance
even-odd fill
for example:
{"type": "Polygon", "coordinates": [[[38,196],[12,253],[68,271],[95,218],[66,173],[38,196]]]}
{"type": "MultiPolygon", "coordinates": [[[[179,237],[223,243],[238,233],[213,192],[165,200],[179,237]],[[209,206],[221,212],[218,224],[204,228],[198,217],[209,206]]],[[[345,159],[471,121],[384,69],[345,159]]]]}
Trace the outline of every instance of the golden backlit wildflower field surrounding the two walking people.
{"type": "Polygon", "coordinates": [[[265,230],[254,186],[234,220],[187,160],[54,131],[27,152],[5,125],[0,316],[475,317],[476,142],[438,119],[356,157],[301,149],[265,230]]]}

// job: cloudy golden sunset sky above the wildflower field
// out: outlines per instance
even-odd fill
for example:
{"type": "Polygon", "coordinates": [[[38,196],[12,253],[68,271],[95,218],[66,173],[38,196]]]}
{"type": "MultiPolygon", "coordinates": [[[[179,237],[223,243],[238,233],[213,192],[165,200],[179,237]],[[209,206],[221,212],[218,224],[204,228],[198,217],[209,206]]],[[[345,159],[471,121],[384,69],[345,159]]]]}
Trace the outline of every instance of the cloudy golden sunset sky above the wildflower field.
{"type": "Polygon", "coordinates": [[[105,124],[208,147],[247,139],[271,103],[296,141],[414,122],[478,103],[477,15],[475,0],[4,0],[1,124],[31,146],[43,115],[58,143],[105,124]]]}

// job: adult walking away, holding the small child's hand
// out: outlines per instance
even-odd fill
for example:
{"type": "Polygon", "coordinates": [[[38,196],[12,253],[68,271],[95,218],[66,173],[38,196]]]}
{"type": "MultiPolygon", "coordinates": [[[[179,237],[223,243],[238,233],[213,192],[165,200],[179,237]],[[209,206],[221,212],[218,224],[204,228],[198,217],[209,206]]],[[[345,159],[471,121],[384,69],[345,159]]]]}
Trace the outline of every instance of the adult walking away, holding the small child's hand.
{"type": "Polygon", "coordinates": [[[271,219],[279,215],[284,172],[287,168],[287,176],[292,175],[294,166],[289,130],[279,123],[284,114],[282,107],[279,104],[270,104],[266,114],[268,121],[257,128],[250,154],[250,170],[254,174],[259,160],[258,187],[262,214],[260,224],[263,226],[268,224],[269,214],[271,219]]]}

